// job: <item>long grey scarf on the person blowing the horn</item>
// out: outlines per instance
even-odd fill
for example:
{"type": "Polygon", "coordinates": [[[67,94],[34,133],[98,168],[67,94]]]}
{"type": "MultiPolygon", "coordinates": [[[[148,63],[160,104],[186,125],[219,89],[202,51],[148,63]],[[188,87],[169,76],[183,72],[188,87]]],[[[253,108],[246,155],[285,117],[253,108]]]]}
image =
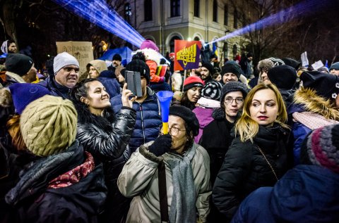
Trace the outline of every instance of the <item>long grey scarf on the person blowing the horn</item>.
{"type": "Polygon", "coordinates": [[[196,191],[192,190],[194,178],[191,160],[196,153],[196,144],[191,146],[184,155],[165,153],[162,157],[172,172],[173,196],[169,222],[196,222],[196,191]]]}

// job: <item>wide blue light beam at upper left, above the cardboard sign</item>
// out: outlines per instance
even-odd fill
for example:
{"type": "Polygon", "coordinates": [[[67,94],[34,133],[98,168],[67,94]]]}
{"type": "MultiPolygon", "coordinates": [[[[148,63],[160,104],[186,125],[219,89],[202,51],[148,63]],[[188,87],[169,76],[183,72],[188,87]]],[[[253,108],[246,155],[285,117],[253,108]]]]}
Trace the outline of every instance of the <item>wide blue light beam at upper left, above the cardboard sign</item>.
{"type": "Polygon", "coordinates": [[[140,47],[145,40],[114,10],[111,10],[107,3],[103,0],[53,0],[60,6],[85,18],[102,27],[102,29],[117,35],[121,39],[126,40],[130,44],[140,47]]]}

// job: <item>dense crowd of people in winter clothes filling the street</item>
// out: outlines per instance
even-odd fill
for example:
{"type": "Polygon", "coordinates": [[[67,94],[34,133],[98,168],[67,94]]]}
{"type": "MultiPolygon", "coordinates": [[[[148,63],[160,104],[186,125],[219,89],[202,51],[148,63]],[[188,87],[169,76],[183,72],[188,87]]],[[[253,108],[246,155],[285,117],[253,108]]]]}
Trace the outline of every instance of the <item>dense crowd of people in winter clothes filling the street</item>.
{"type": "Polygon", "coordinates": [[[339,62],[212,53],[181,72],[145,40],[126,67],[80,74],[63,52],[42,75],[1,51],[0,222],[338,222],[339,62]]]}

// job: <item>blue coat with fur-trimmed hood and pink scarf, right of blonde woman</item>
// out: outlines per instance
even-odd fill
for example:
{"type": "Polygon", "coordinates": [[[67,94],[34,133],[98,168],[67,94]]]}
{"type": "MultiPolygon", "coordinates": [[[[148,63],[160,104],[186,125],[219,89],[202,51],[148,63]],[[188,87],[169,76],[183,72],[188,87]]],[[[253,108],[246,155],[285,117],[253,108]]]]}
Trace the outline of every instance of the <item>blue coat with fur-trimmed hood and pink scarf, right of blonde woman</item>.
{"type": "Polygon", "coordinates": [[[311,89],[295,91],[294,103],[287,110],[292,116],[292,134],[295,141],[293,157],[295,165],[299,164],[302,141],[313,129],[333,125],[339,120],[339,111],[331,106],[326,98],[318,96],[311,89]]]}

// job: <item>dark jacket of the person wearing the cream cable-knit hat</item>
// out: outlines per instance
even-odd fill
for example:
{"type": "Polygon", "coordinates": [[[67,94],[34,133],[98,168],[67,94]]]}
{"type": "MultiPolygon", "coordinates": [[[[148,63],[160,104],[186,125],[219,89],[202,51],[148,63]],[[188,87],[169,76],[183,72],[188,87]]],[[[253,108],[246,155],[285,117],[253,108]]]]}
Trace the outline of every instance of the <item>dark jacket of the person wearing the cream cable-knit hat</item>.
{"type": "Polygon", "coordinates": [[[66,151],[32,162],[6,195],[16,209],[11,222],[97,222],[107,188],[102,165],[71,186],[47,189],[60,174],[83,164],[83,147],[75,141],[66,151]]]}

